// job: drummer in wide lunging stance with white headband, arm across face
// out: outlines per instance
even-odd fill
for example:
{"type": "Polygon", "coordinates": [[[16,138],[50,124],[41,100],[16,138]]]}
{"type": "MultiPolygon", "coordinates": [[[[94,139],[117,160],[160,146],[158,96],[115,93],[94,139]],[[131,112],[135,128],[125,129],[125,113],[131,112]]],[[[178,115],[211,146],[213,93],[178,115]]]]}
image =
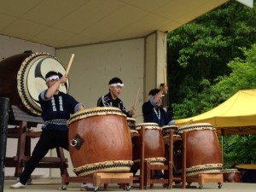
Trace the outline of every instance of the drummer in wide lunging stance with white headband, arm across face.
{"type": "Polygon", "coordinates": [[[11,185],[11,189],[26,188],[27,180],[31,178],[32,172],[49,149],[61,147],[68,150],[67,120],[70,119],[71,113],[84,109],[73,96],[59,90],[60,85],[67,82],[67,76],[50,71],[45,75],[45,79],[48,89],[43,90],[38,96],[42,108],[41,116],[44,119],[42,134],[32,157],[26,162],[25,169],[20,175],[20,182],[11,185]]]}

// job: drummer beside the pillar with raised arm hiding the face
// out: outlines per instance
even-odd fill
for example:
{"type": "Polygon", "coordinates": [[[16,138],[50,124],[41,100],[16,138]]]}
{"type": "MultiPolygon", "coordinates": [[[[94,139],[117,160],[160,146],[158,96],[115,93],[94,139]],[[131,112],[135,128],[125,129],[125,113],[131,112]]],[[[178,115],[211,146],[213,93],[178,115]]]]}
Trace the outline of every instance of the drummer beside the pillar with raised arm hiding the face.
{"type": "Polygon", "coordinates": [[[148,95],[151,96],[148,102],[143,103],[143,119],[145,123],[157,123],[160,127],[164,125],[175,125],[175,121],[166,113],[166,110],[161,107],[162,96],[168,90],[165,84],[161,89],[150,90],[148,95]]]}

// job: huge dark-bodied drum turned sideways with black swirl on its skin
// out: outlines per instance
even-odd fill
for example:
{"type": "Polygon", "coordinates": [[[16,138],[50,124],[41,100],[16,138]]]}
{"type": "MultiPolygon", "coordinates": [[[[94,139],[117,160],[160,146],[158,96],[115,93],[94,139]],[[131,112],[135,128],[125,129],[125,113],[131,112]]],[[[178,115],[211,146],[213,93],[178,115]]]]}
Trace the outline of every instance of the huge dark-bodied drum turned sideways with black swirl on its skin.
{"type": "MultiPolygon", "coordinates": [[[[9,97],[10,105],[40,115],[38,96],[47,89],[44,77],[49,71],[64,74],[65,68],[54,56],[44,52],[26,51],[0,61],[0,96],[9,97]]],[[[67,93],[68,82],[60,90],[67,93]]]]}

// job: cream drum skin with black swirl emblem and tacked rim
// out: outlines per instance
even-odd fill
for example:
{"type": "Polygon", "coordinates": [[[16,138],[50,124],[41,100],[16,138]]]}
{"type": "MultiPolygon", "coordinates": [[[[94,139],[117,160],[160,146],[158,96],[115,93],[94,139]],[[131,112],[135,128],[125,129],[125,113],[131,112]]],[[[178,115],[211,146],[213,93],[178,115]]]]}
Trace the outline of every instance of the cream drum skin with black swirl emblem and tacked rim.
{"type": "MultiPolygon", "coordinates": [[[[20,99],[32,113],[40,115],[42,109],[38,101],[39,94],[47,89],[45,75],[49,71],[64,74],[65,68],[54,56],[47,53],[33,53],[26,57],[17,74],[17,87],[20,99]]],[[[68,81],[60,86],[61,92],[68,92],[68,81]]]]}

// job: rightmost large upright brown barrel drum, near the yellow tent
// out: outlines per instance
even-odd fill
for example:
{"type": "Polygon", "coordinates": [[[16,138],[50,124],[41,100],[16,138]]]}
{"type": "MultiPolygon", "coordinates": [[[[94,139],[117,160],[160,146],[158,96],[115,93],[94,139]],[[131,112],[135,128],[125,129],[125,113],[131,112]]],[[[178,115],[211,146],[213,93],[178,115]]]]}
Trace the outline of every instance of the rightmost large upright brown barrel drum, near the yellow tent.
{"type": "Polygon", "coordinates": [[[182,134],[183,131],[187,133],[187,175],[220,172],[223,166],[221,151],[216,130],[212,125],[207,123],[183,125],[178,128],[178,134],[182,134]]]}

